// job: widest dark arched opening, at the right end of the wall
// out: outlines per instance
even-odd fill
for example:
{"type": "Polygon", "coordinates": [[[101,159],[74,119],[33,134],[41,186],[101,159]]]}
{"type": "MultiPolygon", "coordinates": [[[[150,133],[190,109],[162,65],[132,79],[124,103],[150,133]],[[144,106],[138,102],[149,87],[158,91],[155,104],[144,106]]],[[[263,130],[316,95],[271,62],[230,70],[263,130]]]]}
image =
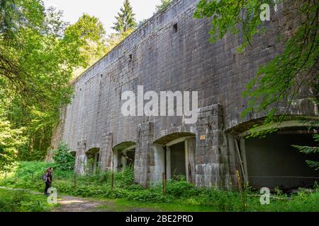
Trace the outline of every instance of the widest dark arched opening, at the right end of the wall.
{"type": "Polygon", "coordinates": [[[245,181],[254,188],[278,187],[291,191],[298,187],[312,187],[319,182],[319,172],[310,168],[306,160],[319,160],[319,154],[300,153],[293,145],[318,146],[313,133],[303,124],[287,121],[279,131],[263,138],[249,138],[240,134],[235,146],[242,159],[245,181]]]}

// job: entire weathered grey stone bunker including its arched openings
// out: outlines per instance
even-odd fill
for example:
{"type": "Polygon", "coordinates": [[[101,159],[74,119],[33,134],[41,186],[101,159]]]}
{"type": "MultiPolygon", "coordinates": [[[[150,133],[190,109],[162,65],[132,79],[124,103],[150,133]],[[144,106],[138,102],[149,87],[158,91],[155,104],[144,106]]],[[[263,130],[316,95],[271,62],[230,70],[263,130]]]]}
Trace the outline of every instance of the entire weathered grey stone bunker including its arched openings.
{"type": "MultiPolygon", "coordinates": [[[[167,179],[182,175],[197,186],[229,189],[237,186],[236,170],[256,187],[314,182],[318,172],[289,148],[310,142],[309,134],[298,133],[305,131],[302,124],[283,124],[281,134],[264,140],[247,139],[248,125],[265,114],[240,117],[247,103],[241,95],[245,85],[282,48],[276,35],[286,35],[284,16],[272,14],[269,32],[237,54],[242,37],[208,42],[210,21],[193,18],[195,4],[173,1],[74,81],[74,97],[62,111],[52,148],[65,141],[76,151],[79,174],[86,173],[88,162],[94,172],[131,165],[135,182],[143,186],[161,182],[164,173],[167,179]],[[137,93],[138,85],[145,92],[198,91],[198,120],[124,117],[121,94],[137,93]]],[[[289,114],[318,117],[318,107],[298,98],[289,114]]]]}

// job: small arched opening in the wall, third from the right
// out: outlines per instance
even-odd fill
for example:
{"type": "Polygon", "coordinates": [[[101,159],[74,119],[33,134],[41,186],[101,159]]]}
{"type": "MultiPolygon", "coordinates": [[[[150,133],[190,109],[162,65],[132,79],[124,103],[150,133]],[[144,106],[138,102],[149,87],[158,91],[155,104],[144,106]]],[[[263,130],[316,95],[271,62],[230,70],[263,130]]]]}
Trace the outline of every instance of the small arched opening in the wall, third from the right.
{"type": "Polygon", "coordinates": [[[115,172],[134,167],[135,148],[134,141],[123,142],[113,148],[113,169],[115,172]]]}

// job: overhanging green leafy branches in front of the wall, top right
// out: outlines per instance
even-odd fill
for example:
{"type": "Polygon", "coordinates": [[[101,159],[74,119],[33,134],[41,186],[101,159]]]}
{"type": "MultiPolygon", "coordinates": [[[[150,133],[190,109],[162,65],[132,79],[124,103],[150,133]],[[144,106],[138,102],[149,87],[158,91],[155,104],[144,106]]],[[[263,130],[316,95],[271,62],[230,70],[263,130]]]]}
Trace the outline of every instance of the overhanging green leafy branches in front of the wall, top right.
{"type": "MultiPolygon", "coordinates": [[[[265,126],[286,119],[285,116],[298,95],[307,95],[317,103],[319,100],[319,4],[315,0],[283,0],[277,1],[277,4],[281,2],[288,21],[286,29],[291,30],[289,36],[279,40],[284,44],[284,52],[261,66],[243,93],[248,98],[248,103],[242,117],[247,117],[250,113],[267,112],[265,126]],[[310,92],[305,92],[303,87],[310,92]],[[278,114],[283,116],[277,117],[278,114]]],[[[271,8],[274,6],[274,1],[262,3],[269,4],[271,8]]],[[[262,3],[257,0],[200,0],[194,17],[212,18],[212,42],[222,39],[228,32],[240,34],[242,45],[238,50],[243,52],[246,47],[252,46],[254,35],[267,31],[267,23],[262,23],[259,18],[262,3]]],[[[265,132],[275,130],[270,128],[265,132]]],[[[252,133],[264,135],[264,132],[256,129],[252,129],[252,133]]]]}

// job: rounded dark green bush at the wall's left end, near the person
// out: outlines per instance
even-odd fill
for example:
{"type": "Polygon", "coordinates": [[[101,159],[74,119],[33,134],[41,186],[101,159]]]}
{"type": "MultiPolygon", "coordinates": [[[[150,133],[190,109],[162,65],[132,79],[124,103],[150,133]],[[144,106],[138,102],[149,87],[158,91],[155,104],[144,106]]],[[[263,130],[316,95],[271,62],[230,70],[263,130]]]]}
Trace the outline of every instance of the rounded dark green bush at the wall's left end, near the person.
{"type": "Polygon", "coordinates": [[[61,171],[68,171],[74,169],[74,156],[72,150],[69,149],[66,143],[60,143],[56,150],[53,150],[53,160],[55,167],[61,171]]]}

